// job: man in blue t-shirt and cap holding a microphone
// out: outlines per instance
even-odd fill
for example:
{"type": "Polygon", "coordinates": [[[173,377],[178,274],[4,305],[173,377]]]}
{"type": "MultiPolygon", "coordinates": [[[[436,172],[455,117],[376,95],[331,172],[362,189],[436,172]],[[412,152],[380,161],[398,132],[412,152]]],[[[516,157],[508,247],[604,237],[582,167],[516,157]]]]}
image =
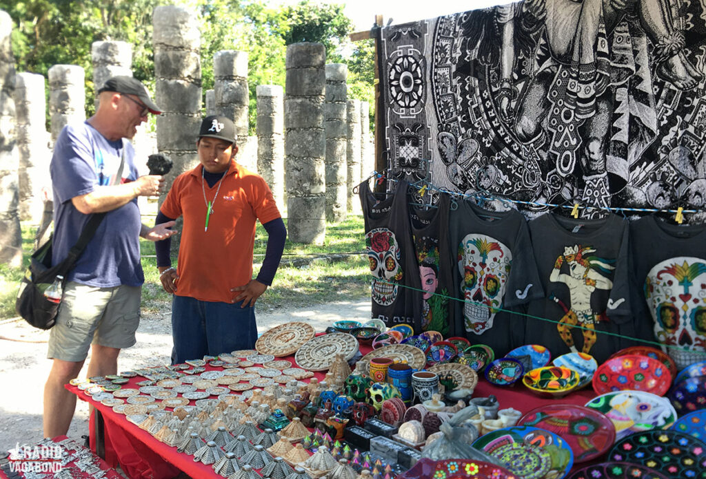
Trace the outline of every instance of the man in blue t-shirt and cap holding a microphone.
{"type": "Polygon", "coordinates": [[[174,222],[148,228],[137,197],[160,192],[162,176],[139,176],[128,139],[148,113],[160,108],[132,77],[109,78],[100,104],[84,123],[67,125],[56,139],[49,167],[54,191],[52,263],[62,261],[92,213],[106,213],[95,236],[68,273],[47,357],[52,371],[44,385],[44,436],[65,435],[76,395],[64,385],[80,373],[91,349],[88,377],[117,373],[120,349],[135,344],[140,321],[139,237],[158,241],[174,234],[174,222]]]}

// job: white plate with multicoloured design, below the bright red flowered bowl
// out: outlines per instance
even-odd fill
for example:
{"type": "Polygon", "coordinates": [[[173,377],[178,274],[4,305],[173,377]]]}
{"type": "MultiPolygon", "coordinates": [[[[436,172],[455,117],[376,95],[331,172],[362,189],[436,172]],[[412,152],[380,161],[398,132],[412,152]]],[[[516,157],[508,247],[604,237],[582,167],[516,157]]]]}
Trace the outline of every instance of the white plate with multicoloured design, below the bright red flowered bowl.
{"type": "Polygon", "coordinates": [[[606,392],[585,406],[613,421],[616,440],[650,428],[666,429],[676,421],[676,411],[669,399],[644,391],[606,392]]]}

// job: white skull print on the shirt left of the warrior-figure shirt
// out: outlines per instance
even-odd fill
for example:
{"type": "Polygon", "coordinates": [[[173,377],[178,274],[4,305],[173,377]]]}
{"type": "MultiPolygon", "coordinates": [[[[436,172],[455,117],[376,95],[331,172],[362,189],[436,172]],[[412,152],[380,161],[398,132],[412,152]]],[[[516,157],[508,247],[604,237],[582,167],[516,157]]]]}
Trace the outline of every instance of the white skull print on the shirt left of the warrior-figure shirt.
{"type": "Polygon", "coordinates": [[[503,306],[513,255],[505,244],[486,235],[466,235],[458,244],[458,270],[463,277],[465,328],[477,335],[493,327],[503,306]]]}

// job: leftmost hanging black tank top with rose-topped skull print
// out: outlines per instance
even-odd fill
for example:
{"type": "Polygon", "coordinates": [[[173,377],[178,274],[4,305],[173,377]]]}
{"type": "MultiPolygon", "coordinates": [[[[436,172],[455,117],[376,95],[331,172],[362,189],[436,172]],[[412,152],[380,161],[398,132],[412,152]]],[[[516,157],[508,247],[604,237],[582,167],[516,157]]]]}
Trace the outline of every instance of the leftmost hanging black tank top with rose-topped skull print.
{"type": "Polygon", "coordinates": [[[388,326],[405,323],[421,331],[421,282],[414,257],[405,181],[378,201],[368,182],[359,186],[372,280],[372,317],[388,326]],[[406,287],[405,287],[406,286],[406,287]]]}

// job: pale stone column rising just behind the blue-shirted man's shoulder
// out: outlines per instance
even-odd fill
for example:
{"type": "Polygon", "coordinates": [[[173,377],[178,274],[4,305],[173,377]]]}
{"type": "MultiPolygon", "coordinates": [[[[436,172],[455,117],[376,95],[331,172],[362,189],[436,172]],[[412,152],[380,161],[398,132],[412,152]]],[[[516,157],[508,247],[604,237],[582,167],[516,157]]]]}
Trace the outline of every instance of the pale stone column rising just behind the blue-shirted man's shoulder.
{"type": "Polygon", "coordinates": [[[52,142],[66,123],[85,120],[85,73],[76,65],[54,65],[49,68],[49,115],[52,142]]]}

